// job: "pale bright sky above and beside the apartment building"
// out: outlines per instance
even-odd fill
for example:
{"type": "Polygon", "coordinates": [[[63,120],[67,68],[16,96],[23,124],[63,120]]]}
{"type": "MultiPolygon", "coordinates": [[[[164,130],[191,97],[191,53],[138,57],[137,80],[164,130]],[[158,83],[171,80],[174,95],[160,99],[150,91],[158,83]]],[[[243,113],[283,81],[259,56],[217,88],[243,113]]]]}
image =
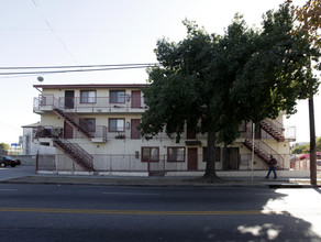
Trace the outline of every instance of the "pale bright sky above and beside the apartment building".
{"type": "MultiPolygon", "coordinates": [[[[298,2],[305,2],[299,1],[298,2]]],[[[156,63],[159,38],[186,36],[182,20],[223,34],[236,12],[248,26],[283,0],[0,0],[0,68],[156,63]]],[[[0,69],[0,74],[3,70],[0,69]]],[[[33,113],[37,77],[49,84],[144,84],[144,68],[129,70],[0,75],[0,143],[18,143],[33,113]]],[[[321,135],[320,96],[314,97],[316,133],[321,135]]],[[[297,142],[309,141],[308,101],[285,120],[296,127],[297,142]]]]}

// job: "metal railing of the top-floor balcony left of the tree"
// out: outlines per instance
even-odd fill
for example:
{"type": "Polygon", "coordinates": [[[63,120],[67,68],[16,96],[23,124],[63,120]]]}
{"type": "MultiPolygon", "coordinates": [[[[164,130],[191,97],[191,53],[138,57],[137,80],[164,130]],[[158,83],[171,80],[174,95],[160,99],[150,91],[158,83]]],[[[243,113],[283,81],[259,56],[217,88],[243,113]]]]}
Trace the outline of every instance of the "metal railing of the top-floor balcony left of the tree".
{"type": "Polygon", "coordinates": [[[34,112],[52,110],[56,107],[65,112],[144,112],[146,109],[144,98],[133,99],[126,97],[123,102],[112,102],[109,97],[97,98],[55,98],[54,95],[45,94],[34,98],[34,112]]]}

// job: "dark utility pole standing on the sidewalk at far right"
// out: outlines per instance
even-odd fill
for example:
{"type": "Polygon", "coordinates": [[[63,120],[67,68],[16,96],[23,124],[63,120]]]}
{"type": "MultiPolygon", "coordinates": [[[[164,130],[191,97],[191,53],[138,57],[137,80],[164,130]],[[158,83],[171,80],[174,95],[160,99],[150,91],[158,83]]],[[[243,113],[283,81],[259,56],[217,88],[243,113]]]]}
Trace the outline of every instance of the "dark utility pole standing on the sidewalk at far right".
{"type": "Polygon", "coordinates": [[[314,128],[314,107],[313,95],[309,98],[309,119],[310,119],[310,183],[317,186],[317,157],[316,157],[316,128],[314,128]]]}

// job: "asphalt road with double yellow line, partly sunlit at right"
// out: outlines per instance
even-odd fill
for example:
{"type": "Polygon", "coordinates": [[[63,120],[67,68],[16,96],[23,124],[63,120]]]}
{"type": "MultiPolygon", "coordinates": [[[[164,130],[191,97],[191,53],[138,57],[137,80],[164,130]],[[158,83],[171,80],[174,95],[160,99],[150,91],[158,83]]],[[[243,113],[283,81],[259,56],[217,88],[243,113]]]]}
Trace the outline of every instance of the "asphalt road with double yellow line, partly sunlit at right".
{"type": "Polygon", "coordinates": [[[320,241],[318,189],[0,184],[0,241],[320,241]]]}

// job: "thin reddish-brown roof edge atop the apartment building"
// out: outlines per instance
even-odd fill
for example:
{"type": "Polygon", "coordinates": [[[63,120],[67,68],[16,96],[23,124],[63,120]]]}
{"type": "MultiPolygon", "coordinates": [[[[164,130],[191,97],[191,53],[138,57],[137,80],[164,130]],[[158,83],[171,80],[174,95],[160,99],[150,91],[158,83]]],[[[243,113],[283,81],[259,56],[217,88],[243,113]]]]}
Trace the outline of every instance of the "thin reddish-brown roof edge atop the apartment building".
{"type": "Polygon", "coordinates": [[[33,85],[34,88],[143,88],[150,84],[67,84],[67,85],[33,85]]]}

